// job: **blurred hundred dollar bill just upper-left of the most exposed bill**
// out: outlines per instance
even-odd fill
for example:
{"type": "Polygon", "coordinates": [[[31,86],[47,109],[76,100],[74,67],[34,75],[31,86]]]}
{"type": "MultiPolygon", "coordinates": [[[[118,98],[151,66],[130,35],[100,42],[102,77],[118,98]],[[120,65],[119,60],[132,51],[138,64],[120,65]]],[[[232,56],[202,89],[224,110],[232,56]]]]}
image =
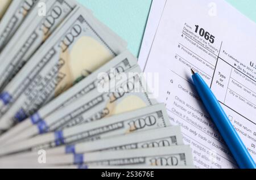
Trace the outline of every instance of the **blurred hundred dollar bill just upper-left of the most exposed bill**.
{"type": "Polygon", "coordinates": [[[40,0],[39,3],[46,6],[45,16],[39,15],[38,8],[34,8],[0,54],[1,89],[77,6],[73,0],[40,0]]]}

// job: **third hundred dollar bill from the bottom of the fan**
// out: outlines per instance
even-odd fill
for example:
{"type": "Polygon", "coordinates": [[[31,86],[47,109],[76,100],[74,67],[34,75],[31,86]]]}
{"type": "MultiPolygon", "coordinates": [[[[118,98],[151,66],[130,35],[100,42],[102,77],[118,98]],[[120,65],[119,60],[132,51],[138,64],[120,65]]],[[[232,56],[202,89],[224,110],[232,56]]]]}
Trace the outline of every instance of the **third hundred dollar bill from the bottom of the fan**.
{"type": "Polygon", "coordinates": [[[85,123],[62,131],[49,132],[0,148],[0,156],[24,151],[49,149],[60,145],[110,138],[133,132],[171,126],[163,104],[152,105],[133,112],[114,115],[100,121],[85,123]]]}

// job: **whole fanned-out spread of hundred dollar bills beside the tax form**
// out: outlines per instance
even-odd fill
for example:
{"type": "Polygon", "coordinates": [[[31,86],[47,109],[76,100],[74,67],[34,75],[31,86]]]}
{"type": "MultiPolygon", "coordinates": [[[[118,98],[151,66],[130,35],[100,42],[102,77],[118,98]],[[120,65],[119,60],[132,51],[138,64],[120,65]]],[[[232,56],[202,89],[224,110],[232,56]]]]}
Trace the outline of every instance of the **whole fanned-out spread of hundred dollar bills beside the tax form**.
{"type": "Polygon", "coordinates": [[[193,168],[126,42],[73,0],[0,0],[0,168],[193,168]]]}

